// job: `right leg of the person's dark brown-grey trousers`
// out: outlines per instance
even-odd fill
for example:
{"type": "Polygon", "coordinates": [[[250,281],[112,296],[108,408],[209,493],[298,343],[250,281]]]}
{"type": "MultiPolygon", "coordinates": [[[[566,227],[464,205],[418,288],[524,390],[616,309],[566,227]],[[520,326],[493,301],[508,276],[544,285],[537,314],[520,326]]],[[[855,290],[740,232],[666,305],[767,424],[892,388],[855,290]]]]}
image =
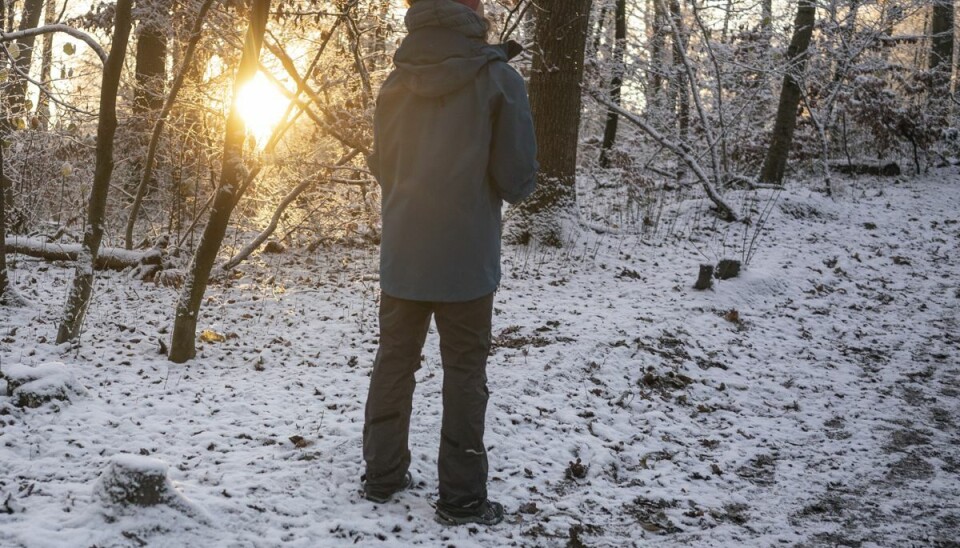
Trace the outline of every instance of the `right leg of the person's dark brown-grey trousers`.
{"type": "Polygon", "coordinates": [[[463,303],[436,303],[443,361],[439,504],[469,508],[487,498],[487,356],[493,294],[463,303]]]}

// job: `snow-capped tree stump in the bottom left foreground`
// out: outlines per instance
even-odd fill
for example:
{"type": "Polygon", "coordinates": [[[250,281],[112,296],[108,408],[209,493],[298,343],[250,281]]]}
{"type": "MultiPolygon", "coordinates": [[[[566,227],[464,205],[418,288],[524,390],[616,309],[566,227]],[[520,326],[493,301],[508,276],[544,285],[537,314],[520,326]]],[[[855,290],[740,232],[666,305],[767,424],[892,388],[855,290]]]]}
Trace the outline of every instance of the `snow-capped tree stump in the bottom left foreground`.
{"type": "Polygon", "coordinates": [[[156,506],[178,498],[163,461],[139,455],[119,454],[101,474],[94,494],[107,506],[156,506]]]}

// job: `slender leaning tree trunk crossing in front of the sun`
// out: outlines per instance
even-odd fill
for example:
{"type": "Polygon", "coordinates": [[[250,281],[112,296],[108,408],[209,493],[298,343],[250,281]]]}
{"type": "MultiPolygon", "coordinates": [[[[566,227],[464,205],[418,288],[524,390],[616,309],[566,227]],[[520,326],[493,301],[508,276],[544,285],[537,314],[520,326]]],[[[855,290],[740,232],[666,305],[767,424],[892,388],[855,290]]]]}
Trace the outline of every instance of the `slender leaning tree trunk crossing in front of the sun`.
{"type": "Polygon", "coordinates": [[[250,21],[244,40],[243,54],[233,85],[233,102],[227,118],[226,135],[223,140],[223,158],[220,167],[220,184],[217,187],[210,212],[210,220],[204,228],[200,245],[190,264],[188,278],[177,302],[176,318],[173,323],[173,338],[170,344],[170,361],[183,363],[196,355],[197,317],[200,302],[207,289],[210,270],[217,258],[217,252],[223,243],[230,214],[236,204],[235,193],[243,182],[243,143],[246,128],[237,110],[236,97],[247,81],[257,72],[263,35],[267,17],[270,14],[270,0],[253,0],[250,7],[250,21]]]}

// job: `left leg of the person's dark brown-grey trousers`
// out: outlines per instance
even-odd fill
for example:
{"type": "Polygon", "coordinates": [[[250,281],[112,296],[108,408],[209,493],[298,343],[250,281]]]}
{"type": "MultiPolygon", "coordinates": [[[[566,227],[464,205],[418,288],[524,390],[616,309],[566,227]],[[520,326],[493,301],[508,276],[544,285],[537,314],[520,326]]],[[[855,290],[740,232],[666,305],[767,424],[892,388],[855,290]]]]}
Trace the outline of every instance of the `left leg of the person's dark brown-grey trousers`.
{"type": "Polygon", "coordinates": [[[370,374],[363,426],[368,489],[391,489],[410,467],[410,412],[430,303],[380,297],[380,347],[370,374]]]}

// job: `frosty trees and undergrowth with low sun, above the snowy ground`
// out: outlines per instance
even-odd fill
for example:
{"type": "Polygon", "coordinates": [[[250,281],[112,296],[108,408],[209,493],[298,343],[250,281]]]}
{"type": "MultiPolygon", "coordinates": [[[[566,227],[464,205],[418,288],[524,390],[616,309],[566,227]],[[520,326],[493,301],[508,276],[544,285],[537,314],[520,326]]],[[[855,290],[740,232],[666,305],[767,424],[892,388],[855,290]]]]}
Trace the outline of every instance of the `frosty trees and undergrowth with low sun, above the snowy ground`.
{"type": "MultiPolygon", "coordinates": [[[[756,234],[767,208],[728,190],[919,174],[960,138],[949,1],[489,4],[491,39],[526,47],[542,166],[534,199],[508,213],[511,243],[656,233],[665,204],[700,197],[703,222],[756,234]]],[[[377,243],[363,159],[402,6],[3,8],[0,250],[52,256],[56,242],[76,258],[58,342],[78,336],[111,258],[183,288],[170,358],[184,361],[211,276],[263,245],[377,243]]],[[[743,239],[732,258],[748,263],[743,239]]],[[[5,256],[0,295],[15,303],[5,256]]]]}

